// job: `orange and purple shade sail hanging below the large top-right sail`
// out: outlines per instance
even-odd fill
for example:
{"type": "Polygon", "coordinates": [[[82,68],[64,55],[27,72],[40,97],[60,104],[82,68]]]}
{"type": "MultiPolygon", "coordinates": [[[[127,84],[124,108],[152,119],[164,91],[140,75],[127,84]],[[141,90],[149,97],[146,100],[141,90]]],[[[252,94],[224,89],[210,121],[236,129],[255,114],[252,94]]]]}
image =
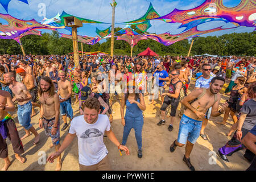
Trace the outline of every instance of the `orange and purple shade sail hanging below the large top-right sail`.
{"type": "Polygon", "coordinates": [[[212,30],[204,30],[204,31],[199,31],[197,30],[197,27],[193,27],[186,32],[183,32],[181,34],[176,34],[176,35],[171,35],[168,32],[164,34],[159,34],[159,35],[156,35],[156,34],[145,34],[145,35],[147,35],[147,38],[155,40],[163,44],[164,46],[170,46],[171,44],[178,42],[180,40],[195,38],[197,36],[208,34],[214,31],[229,30],[229,29],[237,28],[237,27],[232,27],[232,28],[221,28],[221,27],[213,28],[212,30]]]}

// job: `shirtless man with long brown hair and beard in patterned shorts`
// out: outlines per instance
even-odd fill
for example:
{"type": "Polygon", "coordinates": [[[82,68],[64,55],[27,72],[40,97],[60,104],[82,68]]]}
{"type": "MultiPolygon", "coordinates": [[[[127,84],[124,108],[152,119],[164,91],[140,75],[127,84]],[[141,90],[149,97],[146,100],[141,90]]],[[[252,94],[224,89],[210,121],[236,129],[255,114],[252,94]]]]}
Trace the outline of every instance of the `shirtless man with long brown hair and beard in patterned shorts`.
{"type": "MultiPolygon", "coordinates": [[[[60,148],[60,98],[55,93],[55,86],[51,78],[42,77],[39,87],[39,100],[41,102],[39,127],[44,128],[46,135],[51,137],[55,151],[60,148]]],[[[61,169],[61,156],[57,160],[55,171],[61,169]]]]}

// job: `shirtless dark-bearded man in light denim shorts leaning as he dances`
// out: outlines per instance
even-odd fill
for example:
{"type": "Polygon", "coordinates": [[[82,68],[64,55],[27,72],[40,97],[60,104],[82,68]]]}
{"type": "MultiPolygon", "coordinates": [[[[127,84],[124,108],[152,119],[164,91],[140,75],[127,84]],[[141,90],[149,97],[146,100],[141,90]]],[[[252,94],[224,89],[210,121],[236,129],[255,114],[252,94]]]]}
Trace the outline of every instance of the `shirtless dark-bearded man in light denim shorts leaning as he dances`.
{"type": "Polygon", "coordinates": [[[228,107],[228,104],[225,103],[218,110],[221,100],[221,95],[218,92],[220,92],[224,83],[224,78],[214,77],[210,81],[210,87],[208,89],[195,89],[181,101],[187,109],[184,111],[180,121],[178,138],[172,143],[170,151],[174,152],[177,146],[183,147],[187,142],[183,162],[192,171],[195,171],[195,168],[192,166],[189,156],[193,145],[196,143],[197,138],[199,138],[205,113],[209,107],[212,107],[212,117],[218,117],[228,107]]]}

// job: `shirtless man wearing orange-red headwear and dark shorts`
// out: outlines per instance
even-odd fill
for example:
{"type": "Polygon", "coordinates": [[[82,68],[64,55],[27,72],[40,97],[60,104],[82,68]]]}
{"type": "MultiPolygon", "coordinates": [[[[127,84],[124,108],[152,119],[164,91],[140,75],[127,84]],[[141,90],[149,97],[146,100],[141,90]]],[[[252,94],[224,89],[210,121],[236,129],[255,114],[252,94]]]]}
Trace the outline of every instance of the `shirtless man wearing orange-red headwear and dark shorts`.
{"type": "Polygon", "coordinates": [[[23,84],[26,86],[28,92],[30,92],[32,96],[32,113],[31,118],[36,115],[34,107],[40,107],[40,104],[36,103],[36,98],[38,96],[38,88],[35,86],[35,78],[33,75],[26,73],[26,71],[22,68],[16,69],[16,73],[22,76],[23,84]]]}

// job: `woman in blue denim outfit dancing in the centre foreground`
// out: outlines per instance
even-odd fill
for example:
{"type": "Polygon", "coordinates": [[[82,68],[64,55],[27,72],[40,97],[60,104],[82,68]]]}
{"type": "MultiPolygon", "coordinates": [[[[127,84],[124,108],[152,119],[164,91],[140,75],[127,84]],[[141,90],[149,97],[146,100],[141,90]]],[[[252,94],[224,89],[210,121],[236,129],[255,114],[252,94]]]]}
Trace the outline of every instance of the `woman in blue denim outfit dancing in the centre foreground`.
{"type": "Polygon", "coordinates": [[[146,110],[146,105],[142,93],[139,93],[139,90],[135,92],[135,86],[128,86],[128,93],[122,96],[121,101],[121,117],[124,126],[122,145],[126,144],[131,129],[134,129],[138,145],[138,158],[142,158],[142,127],[144,122],[142,111],[144,110],[146,110]]]}

